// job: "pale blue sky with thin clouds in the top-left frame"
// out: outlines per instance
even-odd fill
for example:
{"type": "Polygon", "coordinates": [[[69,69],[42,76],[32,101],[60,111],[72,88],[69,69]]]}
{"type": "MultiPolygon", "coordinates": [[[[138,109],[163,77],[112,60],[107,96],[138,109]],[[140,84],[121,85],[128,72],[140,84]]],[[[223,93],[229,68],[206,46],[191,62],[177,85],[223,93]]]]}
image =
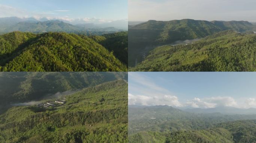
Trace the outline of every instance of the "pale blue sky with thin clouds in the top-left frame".
{"type": "Polygon", "coordinates": [[[0,17],[128,19],[127,0],[0,0],[0,17]]]}

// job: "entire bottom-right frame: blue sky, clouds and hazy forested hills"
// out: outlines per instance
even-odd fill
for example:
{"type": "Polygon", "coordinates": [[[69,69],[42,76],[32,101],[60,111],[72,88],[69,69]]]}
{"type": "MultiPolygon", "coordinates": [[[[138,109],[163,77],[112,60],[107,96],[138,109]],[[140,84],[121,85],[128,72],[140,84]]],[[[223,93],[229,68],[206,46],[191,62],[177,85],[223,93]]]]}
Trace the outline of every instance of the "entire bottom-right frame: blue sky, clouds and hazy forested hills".
{"type": "Polygon", "coordinates": [[[255,143],[254,73],[128,74],[129,143],[255,143]]]}

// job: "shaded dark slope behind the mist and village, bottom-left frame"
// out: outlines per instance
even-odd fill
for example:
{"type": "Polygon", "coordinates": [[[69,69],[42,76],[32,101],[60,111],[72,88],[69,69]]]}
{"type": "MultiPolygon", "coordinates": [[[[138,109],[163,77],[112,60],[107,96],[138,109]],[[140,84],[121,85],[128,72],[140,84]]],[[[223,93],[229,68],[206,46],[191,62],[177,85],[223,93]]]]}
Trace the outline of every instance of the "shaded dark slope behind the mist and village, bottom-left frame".
{"type": "Polygon", "coordinates": [[[127,80],[127,73],[1,72],[0,105],[38,101],[58,92],[72,92],[117,79],[127,80]]]}

